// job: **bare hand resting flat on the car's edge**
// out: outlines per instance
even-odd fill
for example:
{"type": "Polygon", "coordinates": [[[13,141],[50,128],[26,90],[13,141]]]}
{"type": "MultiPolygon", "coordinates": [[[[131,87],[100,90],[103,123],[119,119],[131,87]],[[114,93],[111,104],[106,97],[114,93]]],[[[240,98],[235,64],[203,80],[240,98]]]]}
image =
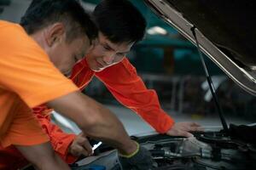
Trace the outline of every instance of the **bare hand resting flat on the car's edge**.
{"type": "Polygon", "coordinates": [[[191,137],[193,134],[189,132],[193,131],[203,131],[203,128],[195,122],[177,122],[166,134],[170,136],[191,137]]]}

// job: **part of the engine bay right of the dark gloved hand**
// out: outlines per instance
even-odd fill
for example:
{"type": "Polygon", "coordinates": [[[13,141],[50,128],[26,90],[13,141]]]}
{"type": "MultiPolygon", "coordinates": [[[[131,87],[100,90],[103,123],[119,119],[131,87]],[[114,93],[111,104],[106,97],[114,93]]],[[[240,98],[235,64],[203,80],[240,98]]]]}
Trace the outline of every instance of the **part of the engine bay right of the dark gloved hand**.
{"type": "Polygon", "coordinates": [[[158,137],[141,144],[150,150],[155,169],[255,168],[255,146],[230,139],[222,133],[198,133],[189,139],[158,137]]]}

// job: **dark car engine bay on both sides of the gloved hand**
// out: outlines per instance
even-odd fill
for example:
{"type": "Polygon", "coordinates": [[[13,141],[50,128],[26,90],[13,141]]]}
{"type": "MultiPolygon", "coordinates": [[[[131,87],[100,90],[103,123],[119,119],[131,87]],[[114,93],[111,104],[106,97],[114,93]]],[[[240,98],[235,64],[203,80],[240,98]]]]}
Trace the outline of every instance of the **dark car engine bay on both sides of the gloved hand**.
{"type": "MultiPolygon", "coordinates": [[[[190,138],[161,134],[131,138],[150,151],[154,159],[154,170],[256,169],[255,143],[230,137],[222,131],[194,133],[194,137],[190,138]]],[[[97,169],[94,167],[98,165],[107,170],[122,169],[117,151],[109,150],[113,148],[102,144],[95,150],[95,155],[98,156],[95,161],[84,163],[88,159],[84,158],[72,167],[88,170],[97,169]]],[[[136,169],[135,167],[134,170],[136,169]]]]}

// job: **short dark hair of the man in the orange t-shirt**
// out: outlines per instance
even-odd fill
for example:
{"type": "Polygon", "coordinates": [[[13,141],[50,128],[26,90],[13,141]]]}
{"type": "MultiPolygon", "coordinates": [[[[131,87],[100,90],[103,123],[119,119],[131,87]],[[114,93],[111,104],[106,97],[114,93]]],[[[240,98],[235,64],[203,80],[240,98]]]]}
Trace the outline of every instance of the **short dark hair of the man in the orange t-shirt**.
{"type": "Polygon", "coordinates": [[[94,40],[98,35],[96,25],[77,0],[33,0],[20,25],[32,34],[56,22],[64,24],[67,42],[85,35],[94,40]]]}

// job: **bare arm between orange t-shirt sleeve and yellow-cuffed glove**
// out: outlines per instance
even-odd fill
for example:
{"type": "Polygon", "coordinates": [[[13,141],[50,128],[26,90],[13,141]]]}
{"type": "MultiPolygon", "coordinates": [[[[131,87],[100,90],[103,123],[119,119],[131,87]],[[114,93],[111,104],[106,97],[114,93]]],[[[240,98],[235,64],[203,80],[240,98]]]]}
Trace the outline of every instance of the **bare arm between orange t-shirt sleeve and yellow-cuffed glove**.
{"type": "Polygon", "coordinates": [[[136,150],[136,144],[129,138],[118,118],[95,100],[73,93],[50,102],[49,106],[76,122],[86,136],[102,140],[123,154],[136,150]]]}

